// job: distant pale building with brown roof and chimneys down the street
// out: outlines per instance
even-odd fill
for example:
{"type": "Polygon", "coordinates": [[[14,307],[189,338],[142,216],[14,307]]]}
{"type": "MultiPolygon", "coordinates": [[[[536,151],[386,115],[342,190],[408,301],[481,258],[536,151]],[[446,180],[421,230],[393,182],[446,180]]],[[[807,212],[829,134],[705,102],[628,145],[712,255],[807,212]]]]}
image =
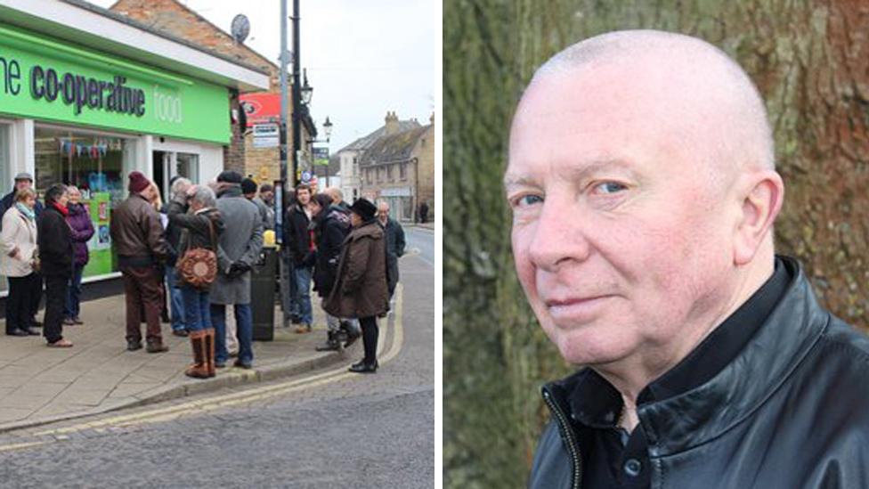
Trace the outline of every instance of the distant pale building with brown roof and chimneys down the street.
{"type": "Polygon", "coordinates": [[[400,131],[395,114],[387,114],[384,135],[358,158],[361,196],[386,200],[400,221],[416,222],[422,202],[435,215],[435,115],[429,120],[428,126],[400,131]]]}

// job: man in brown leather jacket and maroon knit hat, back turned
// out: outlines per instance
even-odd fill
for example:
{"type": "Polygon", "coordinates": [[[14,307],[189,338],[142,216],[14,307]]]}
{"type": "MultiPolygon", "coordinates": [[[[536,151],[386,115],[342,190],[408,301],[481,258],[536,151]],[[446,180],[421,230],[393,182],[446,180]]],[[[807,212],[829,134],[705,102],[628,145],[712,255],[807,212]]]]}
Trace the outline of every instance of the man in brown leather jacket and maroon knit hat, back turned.
{"type": "Polygon", "coordinates": [[[110,232],[118,253],[126,295],[126,349],[142,348],[142,312],[148,353],[165,352],[160,331],[163,287],[160,263],[166,258],[163,225],[152,201],[157,197],[145,175],[129,175],[129,197],[112,212],[110,232]]]}

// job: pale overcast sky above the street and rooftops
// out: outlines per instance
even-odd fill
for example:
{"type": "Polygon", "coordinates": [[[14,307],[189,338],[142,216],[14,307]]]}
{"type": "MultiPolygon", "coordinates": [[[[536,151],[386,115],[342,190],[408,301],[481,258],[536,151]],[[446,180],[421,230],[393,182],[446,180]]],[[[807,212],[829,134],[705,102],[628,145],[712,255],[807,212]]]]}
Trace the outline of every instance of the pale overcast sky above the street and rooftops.
{"type": "MultiPolygon", "coordinates": [[[[115,0],[90,0],[110,7],[115,0]]],[[[245,44],[278,64],[280,0],[180,0],[229,32],[232,18],[250,20],[245,44]]],[[[440,0],[301,0],[302,67],[313,86],[311,113],[337,151],[384,123],[387,110],[427,124],[435,110],[441,37],[440,0]]],[[[287,0],[288,15],[293,1],[287,0]]],[[[288,48],[292,49],[288,20],[288,48]]]]}

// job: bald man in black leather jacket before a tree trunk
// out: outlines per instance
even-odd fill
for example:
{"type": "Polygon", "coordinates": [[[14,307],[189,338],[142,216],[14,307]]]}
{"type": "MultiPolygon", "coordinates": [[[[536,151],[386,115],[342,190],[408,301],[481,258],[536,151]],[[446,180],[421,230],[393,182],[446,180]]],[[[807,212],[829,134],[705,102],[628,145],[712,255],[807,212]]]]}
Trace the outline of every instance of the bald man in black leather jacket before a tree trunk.
{"type": "Polygon", "coordinates": [[[869,342],[776,256],[774,154],[750,78],[699,39],[613,32],[537,71],[513,251],[581,368],[542,389],[531,487],[869,487],[869,342]]]}

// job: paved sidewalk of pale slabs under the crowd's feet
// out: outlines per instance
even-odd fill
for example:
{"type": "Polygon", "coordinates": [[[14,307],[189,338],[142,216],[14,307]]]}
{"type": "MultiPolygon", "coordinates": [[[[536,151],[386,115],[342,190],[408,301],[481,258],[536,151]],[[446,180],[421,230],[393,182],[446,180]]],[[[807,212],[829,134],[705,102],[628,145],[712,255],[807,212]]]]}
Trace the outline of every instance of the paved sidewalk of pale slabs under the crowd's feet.
{"type": "Polygon", "coordinates": [[[326,338],[325,317],[318,306],[314,310],[317,326],[313,333],[300,335],[280,327],[276,309],[274,340],[254,342],[254,369],[233,368],[230,359],[230,366],[218,369],[215,378],[191,379],[183,373],[192,360],[190,342],[173,336],[168,324],[163,325],[163,338],[169,352],[127,352],[124,296],[84,302],[85,324],[63,328],[64,338],[75,344],[72,348],[49,348],[42,337],[0,336],[0,432],[275,379],[357,355],[354,350],[360,346],[343,354],[314,350],[326,338]]]}

